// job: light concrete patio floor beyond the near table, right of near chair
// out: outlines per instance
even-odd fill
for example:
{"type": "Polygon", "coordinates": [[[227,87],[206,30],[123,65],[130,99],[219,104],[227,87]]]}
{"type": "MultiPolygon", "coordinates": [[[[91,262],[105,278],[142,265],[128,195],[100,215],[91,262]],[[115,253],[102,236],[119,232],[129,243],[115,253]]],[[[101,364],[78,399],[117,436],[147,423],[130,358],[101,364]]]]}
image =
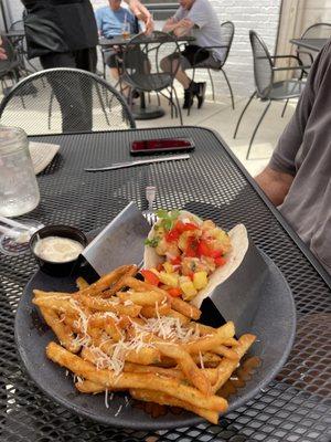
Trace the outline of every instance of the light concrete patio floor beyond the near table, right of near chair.
{"type": "MultiPolygon", "coordinates": [[[[255,176],[268,164],[279,136],[295,112],[297,101],[289,103],[284,118],[281,118],[284,102],[274,102],[271,104],[255,137],[248,160],[246,160],[246,152],[249,139],[266,104],[258,99],[254,99],[250,103],[242,120],[237,138],[233,139],[236,123],[246,101],[247,98],[235,99],[235,110],[233,110],[229,97],[226,96],[223,101],[218,99],[213,102],[212,98],[207,96],[201,109],[197,109],[196,102],[194,103],[190,116],[186,115],[186,110],[183,110],[183,123],[184,125],[202,126],[217,131],[248,172],[255,176]]],[[[152,102],[154,102],[153,98],[152,102]]],[[[180,102],[182,103],[182,99],[180,99],[180,102]]],[[[171,118],[169,105],[163,98],[161,99],[161,106],[166,110],[163,117],[137,120],[137,126],[139,128],[178,126],[179,118],[171,118]]]]}

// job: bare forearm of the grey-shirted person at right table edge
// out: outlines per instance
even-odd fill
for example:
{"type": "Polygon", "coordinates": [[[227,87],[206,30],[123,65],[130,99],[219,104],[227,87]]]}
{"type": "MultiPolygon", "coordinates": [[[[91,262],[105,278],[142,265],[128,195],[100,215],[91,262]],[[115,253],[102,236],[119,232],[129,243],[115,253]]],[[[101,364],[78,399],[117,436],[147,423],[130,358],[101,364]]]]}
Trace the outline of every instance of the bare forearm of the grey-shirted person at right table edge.
{"type": "Polygon", "coordinates": [[[269,200],[275,206],[279,206],[287,196],[293,181],[293,177],[289,173],[274,170],[267,166],[263,172],[255,177],[255,181],[263,189],[269,200]]]}

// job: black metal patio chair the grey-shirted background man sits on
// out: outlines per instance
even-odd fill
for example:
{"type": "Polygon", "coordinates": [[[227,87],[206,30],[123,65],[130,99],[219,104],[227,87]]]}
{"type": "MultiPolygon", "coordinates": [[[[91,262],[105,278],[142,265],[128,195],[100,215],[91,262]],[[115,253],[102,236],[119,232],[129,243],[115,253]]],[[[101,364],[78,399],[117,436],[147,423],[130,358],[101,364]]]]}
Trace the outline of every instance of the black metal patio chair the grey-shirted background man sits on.
{"type": "MultiPolygon", "coordinates": [[[[214,60],[214,61],[204,61],[201,62],[199,64],[194,63],[193,69],[193,73],[192,73],[192,81],[194,81],[195,77],[195,71],[197,69],[206,69],[210,80],[211,80],[211,84],[212,84],[212,93],[213,93],[213,101],[215,101],[215,87],[214,87],[214,82],[213,82],[213,77],[212,77],[212,72],[211,71],[215,71],[215,72],[222,72],[228,91],[229,91],[229,95],[231,95],[231,103],[232,103],[232,108],[235,108],[234,105],[234,96],[233,96],[233,91],[228,81],[228,77],[226,75],[226,72],[224,71],[224,65],[226,63],[226,60],[228,57],[228,53],[231,51],[231,46],[232,46],[232,42],[233,42],[233,38],[234,38],[234,32],[235,32],[235,27],[234,23],[232,21],[226,21],[224,23],[221,24],[221,34],[222,34],[222,45],[218,46],[205,46],[205,48],[201,48],[200,50],[197,50],[197,52],[195,53],[195,56],[197,56],[200,51],[204,51],[204,50],[213,50],[213,49],[223,49],[224,50],[224,55],[223,55],[223,60],[218,61],[218,60],[214,60]]],[[[190,109],[189,109],[190,110],[190,109]]]]}

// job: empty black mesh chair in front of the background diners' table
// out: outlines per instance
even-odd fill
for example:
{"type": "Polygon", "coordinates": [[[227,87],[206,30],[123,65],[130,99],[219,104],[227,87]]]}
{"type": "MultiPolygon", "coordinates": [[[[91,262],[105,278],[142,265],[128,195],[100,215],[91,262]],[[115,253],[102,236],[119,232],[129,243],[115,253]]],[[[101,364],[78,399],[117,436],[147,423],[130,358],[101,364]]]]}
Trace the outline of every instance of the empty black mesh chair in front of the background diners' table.
{"type": "MultiPolygon", "coordinates": [[[[173,85],[178,67],[172,71],[162,71],[160,62],[169,55],[180,54],[177,39],[166,32],[154,31],[152,35],[138,34],[134,36],[122,50],[122,87],[128,85],[131,93],[156,92],[169,99],[171,117],[173,110],[183,124],[182,113],[173,85]],[[168,95],[167,95],[168,93],[168,95]]],[[[159,97],[158,97],[159,99],[159,97]]]]}

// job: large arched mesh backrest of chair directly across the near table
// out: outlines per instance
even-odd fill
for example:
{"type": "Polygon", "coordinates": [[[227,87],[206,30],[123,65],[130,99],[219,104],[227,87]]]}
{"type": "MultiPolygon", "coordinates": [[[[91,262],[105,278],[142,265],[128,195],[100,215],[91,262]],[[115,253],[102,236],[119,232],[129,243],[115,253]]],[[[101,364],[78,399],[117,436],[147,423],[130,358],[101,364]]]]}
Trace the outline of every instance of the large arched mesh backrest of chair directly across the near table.
{"type": "Polygon", "coordinates": [[[0,123],[28,135],[136,127],[124,97],[97,75],[51,69],[21,80],[0,104],[0,123]]]}

